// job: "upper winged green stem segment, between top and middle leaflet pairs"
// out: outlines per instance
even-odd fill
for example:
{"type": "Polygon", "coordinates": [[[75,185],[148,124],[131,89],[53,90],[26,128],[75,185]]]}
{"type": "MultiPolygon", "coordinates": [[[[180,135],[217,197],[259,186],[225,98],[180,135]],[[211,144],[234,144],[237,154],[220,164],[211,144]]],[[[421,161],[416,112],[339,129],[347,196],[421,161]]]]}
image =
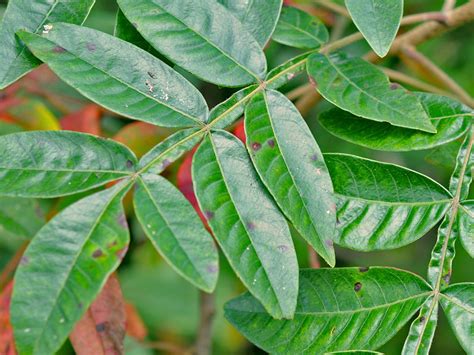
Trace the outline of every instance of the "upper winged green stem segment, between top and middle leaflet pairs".
{"type": "Polygon", "coordinates": [[[245,105],[258,90],[258,85],[250,85],[237,91],[227,100],[214,107],[209,113],[209,122],[218,120],[214,123],[213,128],[227,128],[242,117],[245,105]]]}

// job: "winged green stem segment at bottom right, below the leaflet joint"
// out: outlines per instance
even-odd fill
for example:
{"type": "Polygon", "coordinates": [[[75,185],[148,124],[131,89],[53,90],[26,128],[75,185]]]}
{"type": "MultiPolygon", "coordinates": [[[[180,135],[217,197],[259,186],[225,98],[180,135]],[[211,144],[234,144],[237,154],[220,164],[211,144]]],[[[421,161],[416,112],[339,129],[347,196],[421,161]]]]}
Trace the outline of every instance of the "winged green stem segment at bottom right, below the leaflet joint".
{"type": "Polygon", "coordinates": [[[411,323],[402,355],[428,355],[438,325],[438,301],[430,296],[411,323]]]}

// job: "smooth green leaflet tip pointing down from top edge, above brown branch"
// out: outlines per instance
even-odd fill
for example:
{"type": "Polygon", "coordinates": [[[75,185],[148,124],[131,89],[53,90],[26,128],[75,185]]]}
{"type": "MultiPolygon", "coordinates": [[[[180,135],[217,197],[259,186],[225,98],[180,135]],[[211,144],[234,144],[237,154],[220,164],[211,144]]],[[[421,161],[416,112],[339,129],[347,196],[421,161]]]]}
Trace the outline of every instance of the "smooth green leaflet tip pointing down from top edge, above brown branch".
{"type": "Polygon", "coordinates": [[[397,35],[403,0],[345,0],[354,24],[379,57],[385,57],[397,35]]]}

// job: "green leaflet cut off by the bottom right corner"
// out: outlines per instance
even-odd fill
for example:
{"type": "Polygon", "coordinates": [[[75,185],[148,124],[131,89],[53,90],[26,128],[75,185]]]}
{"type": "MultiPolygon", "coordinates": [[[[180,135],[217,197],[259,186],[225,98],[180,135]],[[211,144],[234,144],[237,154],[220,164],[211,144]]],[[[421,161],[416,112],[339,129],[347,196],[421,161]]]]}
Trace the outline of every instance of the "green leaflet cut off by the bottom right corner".
{"type": "Polygon", "coordinates": [[[440,303],[449,324],[467,354],[471,354],[474,336],[474,283],[449,286],[440,295],[440,303]]]}

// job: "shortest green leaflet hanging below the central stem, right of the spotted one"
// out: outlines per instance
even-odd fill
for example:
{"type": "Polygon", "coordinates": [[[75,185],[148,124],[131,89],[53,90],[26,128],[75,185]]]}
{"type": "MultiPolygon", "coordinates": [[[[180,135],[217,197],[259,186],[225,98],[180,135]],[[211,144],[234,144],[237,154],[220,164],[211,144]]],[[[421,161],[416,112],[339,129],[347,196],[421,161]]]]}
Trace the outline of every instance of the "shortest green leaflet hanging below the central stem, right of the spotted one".
{"type": "Polygon", "coordinates": [[[159,175],[144,174],[133,203],[145,233],[166,261],[186,280],[212,292],[219,271],[217,249],[181,192],[159,175]]]}

